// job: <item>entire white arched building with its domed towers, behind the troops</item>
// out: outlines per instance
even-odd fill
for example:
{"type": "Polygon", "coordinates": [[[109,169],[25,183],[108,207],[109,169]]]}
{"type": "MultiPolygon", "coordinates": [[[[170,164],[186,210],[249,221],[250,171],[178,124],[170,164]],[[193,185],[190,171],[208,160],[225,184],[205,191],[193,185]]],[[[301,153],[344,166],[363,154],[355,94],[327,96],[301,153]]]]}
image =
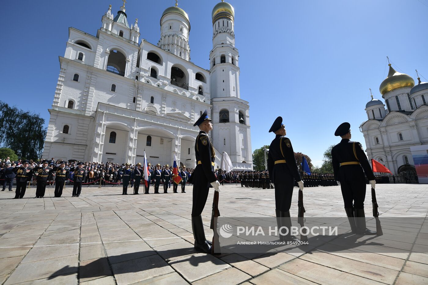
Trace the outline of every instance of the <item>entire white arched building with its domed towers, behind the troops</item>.
{"type": "Polygon", "coordinates": [[[240,98],[234,8],[212,11],[210,69],[190,62],[189,17],[167,8],[157,45],[140,38],[138,20],[128,24],[125,5],[102,17],[96,36],[69,28],[43,157],[115,163],[195,167],[193,127],[205,109],[216,168],[226,151],[235,169],[252,169],[249,104],[240,98]]]}

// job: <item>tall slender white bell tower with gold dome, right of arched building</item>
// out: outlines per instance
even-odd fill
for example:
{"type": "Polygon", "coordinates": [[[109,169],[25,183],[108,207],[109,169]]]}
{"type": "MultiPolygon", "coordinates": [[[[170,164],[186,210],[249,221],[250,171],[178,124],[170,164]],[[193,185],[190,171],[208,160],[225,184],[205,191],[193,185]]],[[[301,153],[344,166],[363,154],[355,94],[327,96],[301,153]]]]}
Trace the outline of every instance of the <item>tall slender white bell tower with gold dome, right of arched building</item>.
{"type": "MultiPolygon", "coordinates": [[[[239,94],[238,49],[235,47],[235,9],[227,2],[212,12],[213,48],[210,52],[211,132],[217,151],[226,151],[236,169],[252,169],[250,116],[239,94]]],[[[221,154],[219,154],[221,155],[221,154]]]]}

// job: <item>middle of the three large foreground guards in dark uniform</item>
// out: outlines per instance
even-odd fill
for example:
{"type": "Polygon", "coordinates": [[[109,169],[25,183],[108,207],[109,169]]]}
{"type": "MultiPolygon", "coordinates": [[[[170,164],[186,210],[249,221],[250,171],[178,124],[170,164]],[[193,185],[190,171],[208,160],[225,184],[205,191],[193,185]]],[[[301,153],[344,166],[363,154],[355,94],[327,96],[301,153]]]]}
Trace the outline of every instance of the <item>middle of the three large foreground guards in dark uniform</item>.
{"type": "Polygon", "coordinates": [[[286,227],[287,235],[279,235],[282,241],[297,240],[291,235],[290,207],[293,196],[294,180],[297,181],[300,190],[303,190],[303,181],[297,169],[291,141],[285,137],[285,126],[282,125],[282,117],[276,118],[270,127],[269,133],[276,134],[275,139],[270,143],[268,152],[268,169],[270,179],[275,187],[276,222],[278,229],[286,227]],[[280,217],[280,219],[278,219],[280,217]]]}

